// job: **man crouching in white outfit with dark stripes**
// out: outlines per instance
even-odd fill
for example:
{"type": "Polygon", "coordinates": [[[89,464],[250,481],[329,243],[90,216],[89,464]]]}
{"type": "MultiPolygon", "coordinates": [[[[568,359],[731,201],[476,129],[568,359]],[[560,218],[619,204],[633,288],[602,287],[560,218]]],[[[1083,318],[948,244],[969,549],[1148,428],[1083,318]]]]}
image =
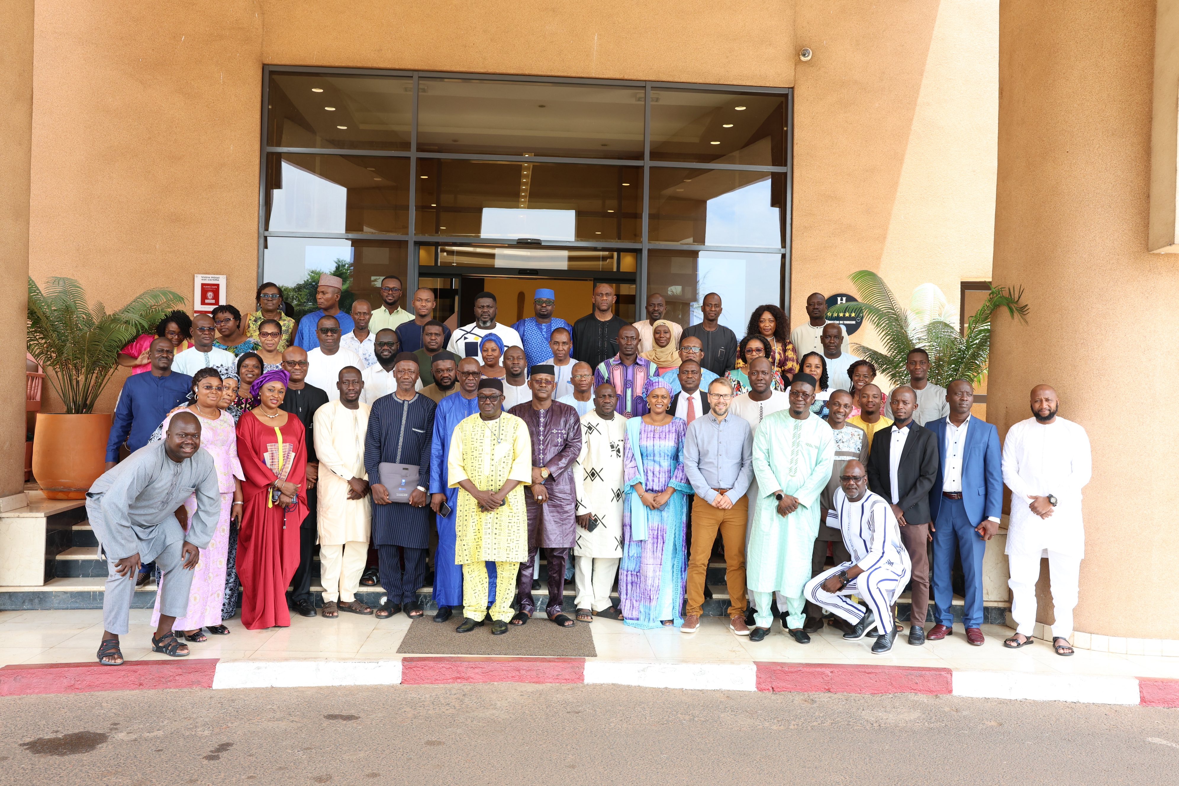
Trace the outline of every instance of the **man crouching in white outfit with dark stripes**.
{"type": "Polygon", "coordinates": [[[868,473],[858,461],[843,465],[834,503],[829,520],[839,522],[851,561],[808,581],[805,595],[855,626],[843,634],[844,639],[863,639],[876,628],[872,652],[880,655],[893,649],[896,639],[893,602],[909,583],[909,553],[901,542],[893,508],[888,500],[868,490],[868,473]],[[852,594],[868,603],[868,610],[848,597],[852,594]]]}

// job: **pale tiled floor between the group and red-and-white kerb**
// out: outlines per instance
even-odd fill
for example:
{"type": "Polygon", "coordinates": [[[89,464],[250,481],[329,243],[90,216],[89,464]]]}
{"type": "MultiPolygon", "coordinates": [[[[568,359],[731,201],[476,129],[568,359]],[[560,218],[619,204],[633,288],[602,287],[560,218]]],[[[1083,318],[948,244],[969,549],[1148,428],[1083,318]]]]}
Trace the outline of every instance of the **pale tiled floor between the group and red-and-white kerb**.
{"type": "MultiPolygon", "coordinates": [[[[447,625],[457,625],[453,620],[447,625]]],[[[529,625],[551,625],[544,617],[529,625]]],[[[397,647],[409,620],[399,614],[389,620],[341,614],[336,620],[296,616],[289,628],[246,630],[231,620],[228,636],[190,645],[195,658],[223,660],[371,660],[400,658],[397,647]]],[[[869,652],[872,639],[843,641],[832,628],[802,646],[783,635],[778,625],[765,641],[735,636],[727,620],[704,617],[699,632],[685,635],[676,628],[637,630],[620,622],[597,619],[592,623],[598,658],[640,662],[749,662],[795,661],[817,663],[872,663],[891,666],[940,666],[954,669],[1015,671],[1033,673],[1095,674],[1111,676],[1165,676],[1179,679],[1179,658],[1120,655],[1078,650],[1073,658],[1053,654],[1047,642],[1009,650],[1002,639],[1009,628],[984,626],[987,643],[967,645],[961,628],[943,641],[910,647],[903,636],[888,655],[869,652]]],[[[127,660],[164,659],[151,653],[151,610],[131,612],[131,633],[124,636],[127,660]]],[[[7,663],[88,662],[94,660],[103,634],[101,612],[0,612],[0,666],[7,663]]],[[[512,635],[508,633],[508,635],[512,635]]]]}

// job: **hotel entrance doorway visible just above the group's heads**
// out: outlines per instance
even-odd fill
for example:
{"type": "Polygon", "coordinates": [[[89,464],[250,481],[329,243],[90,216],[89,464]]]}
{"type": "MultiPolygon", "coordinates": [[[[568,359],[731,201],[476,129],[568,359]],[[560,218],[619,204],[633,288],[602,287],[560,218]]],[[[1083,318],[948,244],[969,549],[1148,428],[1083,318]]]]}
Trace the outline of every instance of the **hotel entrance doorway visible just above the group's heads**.
{"type": "Polygon", "coordinates": [[[434,316],[454,330],[474,319],[475,296],[492,292],[505,325],[535,316],[533,293],[556,295],[553,316],[569,324],[592,309],[591,296],[601,283],[618,293],[614,312],[635,319],[638,251],[527,245],[447,245],[419,247],[417,285],[434,290],[434,316]]]}

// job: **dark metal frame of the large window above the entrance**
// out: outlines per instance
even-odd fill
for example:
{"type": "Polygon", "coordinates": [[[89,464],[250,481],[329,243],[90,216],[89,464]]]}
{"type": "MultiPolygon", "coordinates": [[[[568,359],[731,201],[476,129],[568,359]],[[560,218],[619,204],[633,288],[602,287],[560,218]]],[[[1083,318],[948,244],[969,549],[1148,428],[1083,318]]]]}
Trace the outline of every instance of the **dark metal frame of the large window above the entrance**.
{"type": "MultiPolygon", "coordinates": [[[[723,251],[738,253],[779,253],[782,255],[780,269],[780,305],[790,312],[790,273],[791,273],[791,246],[793,226],[793,140],[795,140],[795,92],[791,87],[766,87],[759,85],[717,85],[703,82],[667,82],[650,80],[626,80],[626,79],[590,79],[578,77],[544,77],[528,74],[479,74],[444,71],[401,71],[384,68],[330,68],[318,66],[295,66],[270,64],[262,68],[262,130],[261,148],[262,154],[258,163],[258,282],[263,280],[265,267],[265,245],[268,237],[307,237],[307,238],[338,238],[344,240],[389,240],[407,244],[407,291],[413,291],[417,286],[420,277],[420,249],[424,245],[437,246],[446,244],[466,245],[511,245],[511,240],[494,240],[492,238],[468,238],[468,237],[440,237],[430,235],[419,235],[416,227],[417,213],[417,161],[419,159],[456,159],[476,161],[505,161],[505,163],[529,163],[529,164],[584,164],[591,166],[641,166],[643,167],[643,211],[641,211],[641,242],[562,242],[554,245],[568,247],[597,247],[602,250],[625,250],[638,252],[638,264],[635,265],[635,316],[641,315],[641,308],[647,297],[647,258],[651,250],[679,250],[679,251],[723,251]],[[340,150],[318,147],[271,147],[268,146],[269,123],[270,123],[270,77],[272,73],[305,73],[324,75],[362,75],[362,77],[400,77],[409,78],[411,84],[413,100],[410,104],[410,131],[408,151],[381,151],[381,150],[340,150]],[[531,84],[564,84],[564,85],[591,85],[607,87],[631,87],[641,88],[644,93],[643,106],[643,157],[637,159],[606,159],[606,158],[579,158],[579,157],[549,157],[549,156],[502,156],[502,154],[479,154],[479,153],[433,153],[419,152],[417,150],[417,125],[419,125],[419,99],[421,95],[421,80],[455,79],[473,81],[518,81],[531,84]],[[709,164],[697,161],[664,161],[651,160],[651,91],[652,90],[683,90],[683,91],[709,91],[709,92],[739,92],[739,93],[763,93],[785,95],[786,100],[786,138],[784,141],[784,166],[765,165],[739,165],[739,164],[709,164]],[[285,232],[270,231],[265,229],[266,218],[266,161],[271,153],[289,153],[301,156],[354,156],[367,158],[408,158],[410,166],[410,183],[408,196],[408,235],[384,235],[384,233],[356,233],[356,232],[285,232]],[[722,245],[681,245],[651,243],[648,238],[648,224],[651,211],[651,169],[694,169],[694,170],[738,170],[752,172],[783,172],[785,174],[785,196],[783,205],[783,229],[784,246],[780,249],[757,247],[757,246],[722,246],[722,245]]],[[[426,271],[426,277],[436,277],[437,266],[430,266],[426,271]]],[[[470,271],[475,272],[475,271],[470,271]]],[[[507,269],[503,271],[507,275],[507,269]]],[[[551,271],[558,272],[558,271],[551,271]]],[[[592,273],[593,271],[575,271],[578,273],[592,273]]],[[[459,272],[459,275],[462,275],[459,272]]],[[[624,275],[623,277],[625,277],[624,275]]],[[[565,276],[562,276],[565,277],[565,276]]],[[[584,276],[581,276],[584,277],[584,276]]],[[[599,276],[600,277],[600,276],[599,276]]]]}

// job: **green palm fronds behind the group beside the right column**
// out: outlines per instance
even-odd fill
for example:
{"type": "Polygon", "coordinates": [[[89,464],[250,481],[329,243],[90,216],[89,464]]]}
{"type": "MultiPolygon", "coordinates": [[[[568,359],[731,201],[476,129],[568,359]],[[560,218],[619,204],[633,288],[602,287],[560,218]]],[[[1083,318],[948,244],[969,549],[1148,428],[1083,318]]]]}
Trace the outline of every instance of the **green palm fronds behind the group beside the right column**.
{"type": "Polygon", "coordinates": [[[849,276],[859,293],[859,300],[831,306],[829,317],[861,317],[876,329],[884,345],[875,350],[852,344],[852,351],[871,361],[880,374],[894,383],[908,379],[904,368],[909,350],[921,346],[929,352],[929,381],[944,388],[954,379],[969,379],[979,384],[987,374],[990,358],[990,317],[1007,310],[1010,318],[1027,322],[1028,306],[1022,303],[1023,289],[992,286],[987,299],[967,319],[959,332],[957,325],[944,315],[916,315],[905,309],[893,295],[884,279],[870,270],[858,270],[849,276]],[[924,318],[922,318],[924,317],[924,318]]]}

